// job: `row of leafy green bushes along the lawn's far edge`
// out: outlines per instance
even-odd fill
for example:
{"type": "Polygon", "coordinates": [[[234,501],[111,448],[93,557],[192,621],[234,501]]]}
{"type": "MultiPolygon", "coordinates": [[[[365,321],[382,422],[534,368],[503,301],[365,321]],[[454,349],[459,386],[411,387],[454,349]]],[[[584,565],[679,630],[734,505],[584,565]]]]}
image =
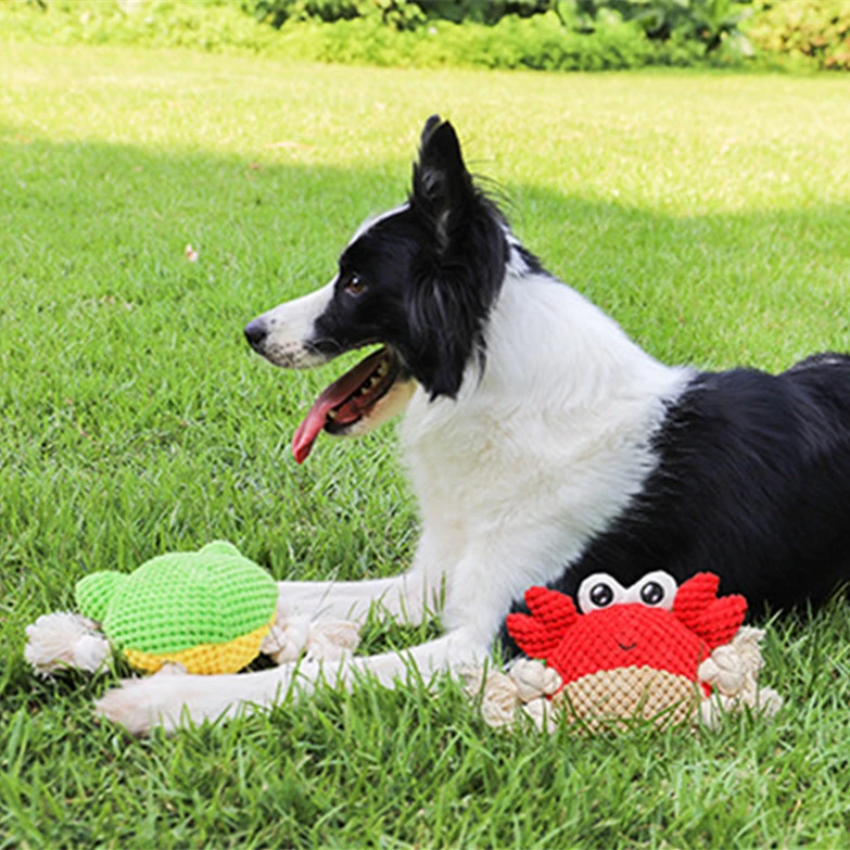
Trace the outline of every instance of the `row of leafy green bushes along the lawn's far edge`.
{"type": "Polygon", "coordinates": [[[0,39],[378,65],[740,67],[747,35],[761,66],[850,69],[850,0],[0,0],[0,39]]]}

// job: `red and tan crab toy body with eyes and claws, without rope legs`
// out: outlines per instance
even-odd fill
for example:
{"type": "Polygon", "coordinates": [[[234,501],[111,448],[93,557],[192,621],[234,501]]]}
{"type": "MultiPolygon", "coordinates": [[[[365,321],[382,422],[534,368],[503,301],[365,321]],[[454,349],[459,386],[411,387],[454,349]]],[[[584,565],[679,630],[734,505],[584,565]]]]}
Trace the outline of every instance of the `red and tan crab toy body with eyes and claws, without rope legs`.
{"type": "Polygon", "coordinates": [[[560,677],[549,688],[553,706],[594,726],[633,716],[677,723],[710,694],[700,665],[733,640],[747,611],[743,596],[718,598],[719,584],[698,573],[676,587],[658,571],[624,588],[597,573],[579,588],[581,613],[570,597],[532,587],[531,614],[510,614],[507,627],[529,658],[560,677]]]}

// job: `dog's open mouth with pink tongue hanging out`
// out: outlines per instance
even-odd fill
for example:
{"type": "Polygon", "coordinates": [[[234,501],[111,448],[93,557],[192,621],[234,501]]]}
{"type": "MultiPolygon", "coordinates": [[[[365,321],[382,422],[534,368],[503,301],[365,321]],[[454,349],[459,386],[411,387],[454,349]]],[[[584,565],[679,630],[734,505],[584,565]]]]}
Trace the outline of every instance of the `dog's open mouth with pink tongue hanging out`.
{"type": "Polygon", "coordinates": [[[401,360],[386,347],[379,348],[338,378],[314,402],[295,431],[292,437],[295,461],[303,464],[307,459],[321,431],[341,436],[370,419],[379,402],[403,378],[401,360]]]}

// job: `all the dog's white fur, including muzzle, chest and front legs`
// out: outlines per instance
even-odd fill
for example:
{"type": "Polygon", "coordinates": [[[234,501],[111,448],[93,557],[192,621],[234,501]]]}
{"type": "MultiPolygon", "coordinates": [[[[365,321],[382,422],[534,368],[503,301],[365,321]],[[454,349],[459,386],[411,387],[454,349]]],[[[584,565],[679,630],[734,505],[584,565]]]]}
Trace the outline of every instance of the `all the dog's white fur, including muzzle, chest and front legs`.
{"type": "MultiPolygon", "coordinates": [[[[327,299],[326,287],[266,314],[287,316],[276,361],[308,365],[296,329],[306,332],[327,299]]],[[[348,683],[359,672],[392,685],[408,664],[429,675],[481,661],[511,601],[559,575],[642,489],[664,403],[690,377],[652,359],[573,290],[531,275],[516,248],[486,343],[486,368],[470,366],[457,399],[431,402],[417,388],[407,406],[402,436],[423,521],[411,569],[364,583],[281,585],[294,612],[359,620],[379,602],[415,622],[444,593],[444,637],[325,669],[154,676],[109,693],[99,711],[137,733],[174,728],[183,716],[271,705],[322,676],[348,683]]]]}

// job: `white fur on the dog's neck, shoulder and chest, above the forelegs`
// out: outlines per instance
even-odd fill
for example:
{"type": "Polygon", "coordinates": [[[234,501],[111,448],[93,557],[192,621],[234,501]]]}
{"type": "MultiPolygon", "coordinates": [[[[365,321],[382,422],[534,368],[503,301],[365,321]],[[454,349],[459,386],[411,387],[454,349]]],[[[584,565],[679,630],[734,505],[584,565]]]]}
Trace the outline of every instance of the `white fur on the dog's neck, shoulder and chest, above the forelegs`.
{"type": "Polygon", "coordinates": [[[417,391],[402,429],[447,627],[489,643],[512,600],[579,558],[654,469],[649,437],[688,378],[562,283],[508,275],[483,376],[457,402],[417,391]]]}

